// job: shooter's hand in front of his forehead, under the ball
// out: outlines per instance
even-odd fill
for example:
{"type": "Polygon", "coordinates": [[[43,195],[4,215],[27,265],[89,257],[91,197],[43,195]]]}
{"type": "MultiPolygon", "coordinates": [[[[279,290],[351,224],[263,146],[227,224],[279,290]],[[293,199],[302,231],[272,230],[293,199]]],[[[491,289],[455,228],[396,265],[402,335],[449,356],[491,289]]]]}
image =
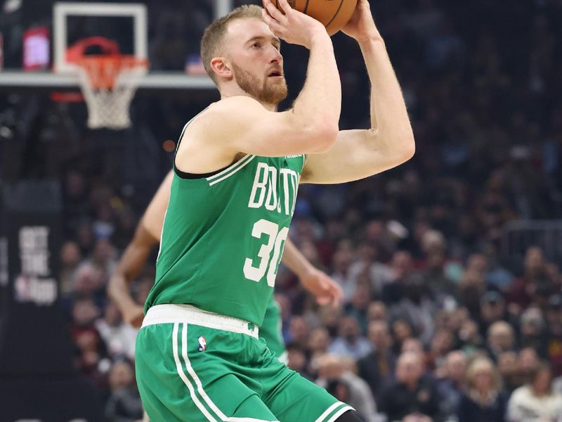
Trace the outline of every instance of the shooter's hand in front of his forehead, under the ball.
{"type": "Polygon", "coordinates": [[[271,0],[263,1],[263,21],[271,32],[289,44],[298,44],[311,49],[315,37],[328,37],[324,25],[318,20],[289,6],[287,0],[279,0],[281,10],[271,0]]]}

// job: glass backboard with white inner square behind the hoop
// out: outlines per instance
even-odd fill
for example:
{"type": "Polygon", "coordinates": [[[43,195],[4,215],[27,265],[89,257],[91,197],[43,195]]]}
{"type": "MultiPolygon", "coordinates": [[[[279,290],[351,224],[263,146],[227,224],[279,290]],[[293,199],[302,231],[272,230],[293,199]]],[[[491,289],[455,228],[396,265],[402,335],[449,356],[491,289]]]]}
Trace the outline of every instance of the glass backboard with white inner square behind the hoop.
{"type": "MultiPolygon", "coordinates": [[[[234,0],[214,0],[209,7],[209,11],[202,21],[210,20],[228,13],[233,8],[234,0]]],[[[47,3],[47,2],[46,2],[47,3]]],[[[27,3],[23,3],[29,5],[27,3]]],[[[41,8],[37,8],[36,16],[33,20],[27,20],[20,25],[24,30],[35,26],[44,25],[49,31],[51,56],[48,67],[43,70],[34,70],[32,72],[25,71],[20,64],[21,59],[16,60],[18,63],[8,63],[7,44],[21,45],[21,39],[8,39],[9,19],[3,20],[8,23],[0,25],[0,35],[4,32],[4,70],[0,69],[0,89],[2,91],[11,90],[51,90],[51,89],[74,89],[78,87],[79,78],[74,71],[74,65],[67,60],[67,49],[77,40],[77,37],[85,37],[98,35],[114,39],[115,23],[119,27],[119,36],[123,39],[119,40],[122,47],[122,53],[131,54],[137,58],[148,58],[152,63],[147,75],[142,79],[140,88],[150,90],[171,90],[171,89],[214,89],[211,79],[201,72],[201,67],[197,67],[198,56],[191,54],[190,56],[181,57],[183,60],[180,65],[175,67],[166,67],[155,65],[157,60],[150,57],[154,52],[155,40],[150,39],[148,34],[149,27],[161,25],[155,22],[154,18],[162,10],[162,5],[157,0],[145,0],[131,3],[126,0],[116,3],[98,3],[89,1],[58,1],[51,3],[52,8],[42,4],[41,8]],[[39,10],[40,9],[40,10],[39,10]],[[96,32],[96,30],[99,30],[96,32]],[[121,44],[121,41],[122,44],[121,44]],[[150,46],[150,48],[149,48],[150,46]],[[191,63],[195,63],[192,65],[191,63]],[[185,67],[183,65],[185,63],[185,67]],[[188,65],[188,63],[190,63],[188,65]]],[[[186,13],[189,8],[185,4],[178,2],[178,7],[183,8],[182,12],[186,13]]],[[[25,6],[27,7],[27,6],[25,6]]],[[[30,15],[29,12],[21,11],[20,15],[30,15]]],[[[13,13],[14,17],[18,13],[13,13]]],[[[11,16],[10,16],[11,18],[11,16]]],[[[162,25],[161,25],[162,26],[162,25]]],[[[165,27],[165,25],[164,25],[165,27]]],[[[162,27],[158,27],[155,31],[162,32],[162,27]]],[[[17,34],[18,31],[12,31],[17,34]]],[[[190,40],[197,38],[197,32],[190,32],[190,40]]],[[[192,52],[195,50],[191,49],[192,52]]]]}

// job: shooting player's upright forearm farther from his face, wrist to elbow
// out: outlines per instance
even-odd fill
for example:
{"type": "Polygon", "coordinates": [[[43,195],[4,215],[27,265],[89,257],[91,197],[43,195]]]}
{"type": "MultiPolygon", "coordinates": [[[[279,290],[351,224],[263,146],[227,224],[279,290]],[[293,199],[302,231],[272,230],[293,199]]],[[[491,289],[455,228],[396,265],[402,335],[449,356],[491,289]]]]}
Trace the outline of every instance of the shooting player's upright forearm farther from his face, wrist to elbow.
{"type": "Polygon", "coordinates": [[[377,149],[408,159],[414,153],[414,135],[384,41],[372,36],[359,46],[371,81],[371,129],[377,134],[377,149]]]}

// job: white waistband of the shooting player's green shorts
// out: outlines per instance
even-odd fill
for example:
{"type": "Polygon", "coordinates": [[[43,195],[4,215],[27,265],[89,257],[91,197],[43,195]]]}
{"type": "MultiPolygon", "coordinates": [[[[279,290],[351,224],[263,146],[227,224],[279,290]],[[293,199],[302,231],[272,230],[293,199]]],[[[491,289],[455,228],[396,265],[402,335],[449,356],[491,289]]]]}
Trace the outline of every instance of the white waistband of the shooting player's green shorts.
{"type": "Polygon", "coordinates": [[[148,309],[143,319],[143,327],[154,324],[194,324],[216,330],[231,331],[233,333],[247,334],[258,338],[259,328],[242,319],[231,316],[214,314],[202,311],[191,305],[164,304],[155,305],[148,309]]]}

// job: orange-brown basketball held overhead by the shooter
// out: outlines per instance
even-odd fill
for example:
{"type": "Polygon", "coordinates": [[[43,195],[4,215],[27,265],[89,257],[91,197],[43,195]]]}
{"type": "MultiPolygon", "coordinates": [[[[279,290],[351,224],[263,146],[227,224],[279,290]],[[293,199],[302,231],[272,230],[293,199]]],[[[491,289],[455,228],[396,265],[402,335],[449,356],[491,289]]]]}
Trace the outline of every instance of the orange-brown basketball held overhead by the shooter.
{"type": "MultiPolygon", "coordinates": [[[[348,23],[357,0],[288,0],[292,8],[324,24],[330,36],[348,23]]],[[[273,2],[280,9],[279,1],[273,2]]]]}

